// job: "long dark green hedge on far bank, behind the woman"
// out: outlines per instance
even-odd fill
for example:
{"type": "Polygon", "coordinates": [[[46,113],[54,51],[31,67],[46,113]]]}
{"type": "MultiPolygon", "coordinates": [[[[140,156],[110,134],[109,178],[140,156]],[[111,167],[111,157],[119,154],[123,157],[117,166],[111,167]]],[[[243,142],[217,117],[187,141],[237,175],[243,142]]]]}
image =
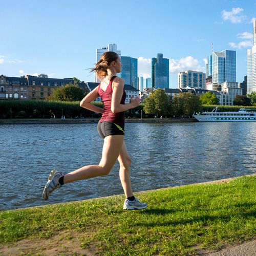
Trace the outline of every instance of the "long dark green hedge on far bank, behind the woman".
{"type": "MultiPolygon", "coordinates": [[[[102,102],[93,102],[103,108],[102,102]]],[[[125,113],[126,117],[139,117],[143,104],[125,113]]],[[[0,100],[0,118],[97,118],[101,115],[80,107],[79,101],[44,101],[44,100],[0,100]],[[62,112],[63,111],[63,112],[62,112]]],[[[144,117],[144,115],[143,115],[144,117]]]]}

